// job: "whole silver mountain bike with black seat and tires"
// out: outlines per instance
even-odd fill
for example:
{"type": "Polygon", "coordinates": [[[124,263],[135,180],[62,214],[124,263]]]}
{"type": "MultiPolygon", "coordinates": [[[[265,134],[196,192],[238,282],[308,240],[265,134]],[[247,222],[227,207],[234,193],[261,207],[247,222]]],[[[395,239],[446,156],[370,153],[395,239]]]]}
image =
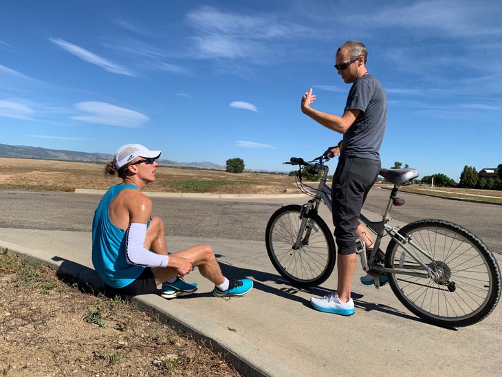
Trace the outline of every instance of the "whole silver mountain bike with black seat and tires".
{"type": "MultiPolygon", "coordinates": [[[[328,160],[329,156],[320,156],[309,162],[302,158],[285,162],[299,167],[298,187],[312,199],[303,206],[279,208],[265,231],[270,261],[287,281],[301,288],[320,285],[335,266],[334,237],[318,214],[321,203],[332,211],[331,188],[326,184],[328,160]],[[320,173],[317,188],[302,182],[305,169],[320,173]]],[[[362,269],[375,277],[375,287],[386,276],[397,299],[435,325],[462,327],[485,319],[501,294],[501,272],[492,252],[469,230],[444,220],[389,226],[392,206],[404,204],[397,197],[400,186],[412,184],[418,171],[381,169],[380,175],[393,184],[382,220],[371,222],[360,215],[360,222],[376,235],[375,246],[367,252],[364,242],[356,241],[362,269]],[[379,250],[386,236],[390,240],[383,257],[379,250]]]]}

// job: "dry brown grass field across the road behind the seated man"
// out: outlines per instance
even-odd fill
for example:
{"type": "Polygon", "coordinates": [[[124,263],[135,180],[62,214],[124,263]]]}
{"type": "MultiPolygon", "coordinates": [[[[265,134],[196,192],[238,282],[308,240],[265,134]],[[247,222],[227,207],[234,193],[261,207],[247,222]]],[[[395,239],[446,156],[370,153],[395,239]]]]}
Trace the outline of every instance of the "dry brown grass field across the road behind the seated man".
{"type": "MultiPolygon", "coordinates": [[[[0,189],[74,191],[108,189],[120,182],[105,177],[105,164],[0,158],[0,189]]],[[[147,190],[171,193],[279,194],[295,192],[294,177],[285,174],[226,173],[159,166],[147,190]]]]}

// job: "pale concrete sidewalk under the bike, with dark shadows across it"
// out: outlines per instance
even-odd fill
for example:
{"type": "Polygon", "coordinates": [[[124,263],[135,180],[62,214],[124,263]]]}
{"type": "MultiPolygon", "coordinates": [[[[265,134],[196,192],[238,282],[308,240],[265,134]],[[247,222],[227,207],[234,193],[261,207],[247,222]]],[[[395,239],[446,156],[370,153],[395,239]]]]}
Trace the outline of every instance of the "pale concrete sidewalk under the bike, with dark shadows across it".
{"type": "MultiPolygon", "coordinates": [[[[205,338],[228,354],[248,376],[499,376],[502,367],[502,310],[477,325],[447,330],[408,312],[389,286],[376,290],[353,283],[356,314],[316,312],[312,296],[336,286],[336,271],[323,286],[298,290],[277,274],[264,242],[169,237],[170,250],[210,244],[223,273],[248,277],[254,289],[228,301],[213,297],[212,284],[195,271],[195,294],[166,301],[136,297],[180,330],[205,338]]],[[[0,246],[55,266],[78,281],[101,286],[91,264],[91,233],[0,228],[0,246]]],[[[499,263],[501,258],[497,255],[499,263]]]]}

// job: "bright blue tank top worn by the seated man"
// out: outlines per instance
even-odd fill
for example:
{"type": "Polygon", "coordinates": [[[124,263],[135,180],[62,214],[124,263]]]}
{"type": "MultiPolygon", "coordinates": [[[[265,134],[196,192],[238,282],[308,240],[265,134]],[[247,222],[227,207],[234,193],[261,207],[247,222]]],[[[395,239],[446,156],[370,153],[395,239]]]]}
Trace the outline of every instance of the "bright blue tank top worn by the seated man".
{"type": "Polygon", "coordinates": [[[102,281],[113,288],[123,288],[135,281],[144,267],[127,263],[125,230],[113,225],[108,208],[110,202],[124,189],[138,189],[133,184],[112,186],[94,211],[92,221],[92,264],[102,281]]]}

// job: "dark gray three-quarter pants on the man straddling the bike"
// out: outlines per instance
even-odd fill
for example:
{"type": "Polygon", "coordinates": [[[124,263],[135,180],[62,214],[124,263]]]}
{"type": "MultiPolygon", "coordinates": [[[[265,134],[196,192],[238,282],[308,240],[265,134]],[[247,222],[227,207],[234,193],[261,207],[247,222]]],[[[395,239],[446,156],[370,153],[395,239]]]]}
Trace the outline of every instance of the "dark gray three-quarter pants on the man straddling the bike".
{"type": "Polygon", "coordinates": [[[334,235],[338,254],[356,252],[356,229],[362,204],[375,184],[380,172],[380,161],[367,158],[340,158],[333,176],[334,235]]]}

